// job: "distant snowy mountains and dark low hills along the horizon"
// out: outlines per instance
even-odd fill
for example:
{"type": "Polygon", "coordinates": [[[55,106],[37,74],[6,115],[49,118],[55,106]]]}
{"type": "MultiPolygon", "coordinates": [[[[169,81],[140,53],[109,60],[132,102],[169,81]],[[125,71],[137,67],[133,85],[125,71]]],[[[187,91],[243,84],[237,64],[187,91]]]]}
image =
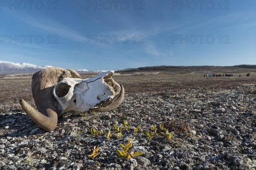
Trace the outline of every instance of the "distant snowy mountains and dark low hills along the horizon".
{"type": "MultiPolygon", "coordinates": [[[[52,67],[50,65],[34,65],[26,62],[15,63],[0,61],[0,77],[6,77],[10,74],[17,76],[23,76],[25,74],[34,74],[44,68],[52,67]]],[[[159,65],[159,66],[148,66],[139,68],[126,68],[123,70],[116,71],[117,73],[134,73],[134,72],[161,72],[161,71],[214,71],[214,72],[227,72],[235,73],[241,70],[245,72],[255,72],[256,65],[234,65],[234,66],[171,66],[171,65],[159,65]]],[[[92,69],[81,69],[76,70],[79,74],[91,74],[91,73],[102,73],[105,70],[92,70],[92,69]]]]}

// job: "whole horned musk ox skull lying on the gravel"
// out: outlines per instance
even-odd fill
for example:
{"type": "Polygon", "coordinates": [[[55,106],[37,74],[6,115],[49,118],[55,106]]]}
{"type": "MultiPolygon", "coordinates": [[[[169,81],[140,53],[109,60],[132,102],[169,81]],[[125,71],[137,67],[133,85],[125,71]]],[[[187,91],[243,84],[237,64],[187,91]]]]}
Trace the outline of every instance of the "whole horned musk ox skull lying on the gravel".
{"type": "Polygon", "coordinates": [[[71,69],[46,68],[32,77],[32,94],[37,110],[25,100],[20,105],[27,115],[44,130],[55,129],[58,117],[66,113],[80,114],[86,111],[111,111],[124,98],[124,88],[107,71],[90,79],[81,79],[71,69]]]}

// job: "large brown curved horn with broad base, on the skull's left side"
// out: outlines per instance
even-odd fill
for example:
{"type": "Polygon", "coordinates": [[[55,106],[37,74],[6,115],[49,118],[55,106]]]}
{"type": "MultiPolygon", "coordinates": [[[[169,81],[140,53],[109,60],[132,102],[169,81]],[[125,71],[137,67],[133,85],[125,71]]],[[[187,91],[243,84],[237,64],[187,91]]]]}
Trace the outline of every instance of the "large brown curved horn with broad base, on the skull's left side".
{"type": "Polygon", "coordinates": [[[58,122],[58,114],[54,105],[55,98],[52,94],[54,86],[66,77],[80,77],[73,70],[62,68],[46,68],[35,73],[32,77],[32,94],[37,110],[25,100],[20,100],[20,105],[27,115],[44,130],[54,130],[58,122]],[[71,72],[71,73],[70,73],[71,72]]]}

